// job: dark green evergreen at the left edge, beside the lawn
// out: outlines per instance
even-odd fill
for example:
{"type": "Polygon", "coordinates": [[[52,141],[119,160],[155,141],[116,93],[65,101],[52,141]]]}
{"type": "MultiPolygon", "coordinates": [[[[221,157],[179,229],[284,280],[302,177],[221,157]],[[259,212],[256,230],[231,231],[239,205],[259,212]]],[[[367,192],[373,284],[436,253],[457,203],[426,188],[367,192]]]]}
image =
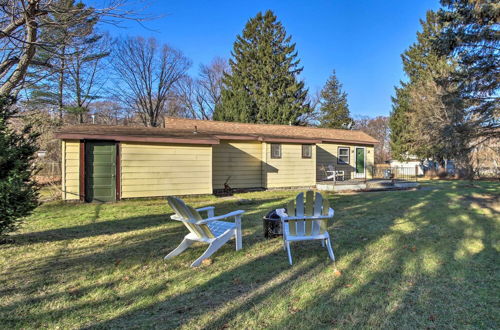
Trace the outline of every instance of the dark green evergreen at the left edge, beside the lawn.
{"type": "Polygon", "coordinates": [[[14,100],[0,96],[0,236],[13,231],[20,219],[38,205],[38,193],[32,180],[38,134],[30,126],[20,132],[9,128],[16,114],[14,100]]]}

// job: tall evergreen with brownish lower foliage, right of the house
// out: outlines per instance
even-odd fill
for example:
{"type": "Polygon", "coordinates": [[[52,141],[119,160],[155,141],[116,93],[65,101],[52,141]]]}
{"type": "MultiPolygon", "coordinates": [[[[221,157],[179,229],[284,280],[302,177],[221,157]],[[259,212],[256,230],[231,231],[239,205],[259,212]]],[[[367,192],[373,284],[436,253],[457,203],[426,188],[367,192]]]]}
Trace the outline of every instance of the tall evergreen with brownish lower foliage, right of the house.
{"type": "Polygon", "coordinates": [[[443,29],[435,12],[421,22],[417,42],[402,55],[409,81],[396,89],[391,114],[393,155],[430,158],[443,163],[453,159],[469,176],[471,141],[477,121],[467,116],[463,90],[451,77],[456,58],[436,51],[434,42],[443,29]]]}

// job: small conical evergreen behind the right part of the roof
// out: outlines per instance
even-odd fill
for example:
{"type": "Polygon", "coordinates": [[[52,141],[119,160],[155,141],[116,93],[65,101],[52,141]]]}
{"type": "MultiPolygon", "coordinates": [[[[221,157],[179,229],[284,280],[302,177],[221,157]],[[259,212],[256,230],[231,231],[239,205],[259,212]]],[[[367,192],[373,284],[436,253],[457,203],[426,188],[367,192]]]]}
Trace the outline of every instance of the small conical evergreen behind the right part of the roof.
{"type": "Polygon", "coordinates": [[[335,71],[321,90],[319,122],[321,127],[344,129],[350,129],[354,124],[349,115],[347,93],[342,90],[335,71]]]}

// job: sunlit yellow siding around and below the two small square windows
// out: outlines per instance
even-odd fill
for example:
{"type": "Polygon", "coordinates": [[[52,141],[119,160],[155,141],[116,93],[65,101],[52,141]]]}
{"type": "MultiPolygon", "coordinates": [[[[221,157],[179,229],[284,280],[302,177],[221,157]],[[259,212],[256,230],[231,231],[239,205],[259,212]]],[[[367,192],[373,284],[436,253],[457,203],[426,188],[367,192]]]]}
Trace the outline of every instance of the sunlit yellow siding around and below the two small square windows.
{"type": "Polygon", "coordinates": [[[302,158],[302,145],[281,143],[281,158],[271,158],[271,145],[266,145],[266,188],[305,187],[316,184],[316,148],[312,157],[302,158]]]}

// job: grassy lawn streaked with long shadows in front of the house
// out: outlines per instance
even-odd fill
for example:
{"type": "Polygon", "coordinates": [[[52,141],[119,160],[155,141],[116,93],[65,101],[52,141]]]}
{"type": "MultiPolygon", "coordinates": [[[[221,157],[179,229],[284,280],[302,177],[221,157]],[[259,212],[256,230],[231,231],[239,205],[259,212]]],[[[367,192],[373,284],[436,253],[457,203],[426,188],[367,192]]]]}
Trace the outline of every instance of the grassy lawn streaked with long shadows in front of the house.
{"type": "Polygon", "coordinates": [[[0,246],[2,328],[498,328],[500,184],[330,194],[337,257],[265,240],[262,216],[297,191],[185,200],[245,209],[234,242],[192,269],[196,245],[162,199],[42,205],[0,246]],[[252,204],[239,205],[238,199],[252,204]]]}

